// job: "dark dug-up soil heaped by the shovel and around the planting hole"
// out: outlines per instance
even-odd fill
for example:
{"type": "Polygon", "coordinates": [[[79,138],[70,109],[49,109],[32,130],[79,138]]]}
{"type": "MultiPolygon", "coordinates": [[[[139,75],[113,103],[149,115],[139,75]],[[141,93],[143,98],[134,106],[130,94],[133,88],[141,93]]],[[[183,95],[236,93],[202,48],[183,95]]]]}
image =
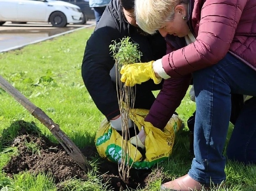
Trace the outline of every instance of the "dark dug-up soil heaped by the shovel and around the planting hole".
{"type": "MultiPolygon", "coordinates": [[[[38,133],[38,130],[31,131],[31,127],[36,127],[33,122],[17,121],[15,123],[20,126],[19,134],[9,142],[9,145],[17,147],[19,155],[13,156],[10,162],[4,166],[5,173],[11,177],[13,174],[25,170],[35,174],[39,172],[50,173],[56,183],[73,177],[87,179],[86,172],[75,163],[60,144],[49,141],[45,136],[38,133]]],[[[83,148],[82,153],[88,160],[92,157],[99,157],[95,146],[83,148]]],[[[108,161],[98,165],[98,173],[102,175],[103,182],[107,182],[109,188],[111,187],[115,191],[143,188],[147,186],[148,182],[161,176],[160,170],[151,173],[151,170],[132,169],[127,185],[119,176],[118,165],[108,161]]]]}

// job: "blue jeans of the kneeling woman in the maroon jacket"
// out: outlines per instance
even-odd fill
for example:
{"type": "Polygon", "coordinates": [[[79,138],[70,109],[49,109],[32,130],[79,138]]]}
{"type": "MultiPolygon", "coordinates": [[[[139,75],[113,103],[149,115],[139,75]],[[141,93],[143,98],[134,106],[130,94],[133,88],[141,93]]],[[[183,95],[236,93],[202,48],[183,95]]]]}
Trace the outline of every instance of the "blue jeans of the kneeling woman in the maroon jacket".
{"type": "MultiPolygon", "coordinates": [[[[188,175],[201,183],[218,184],[226,178],[222,152],[231,114],[231,93],[256,96],[256,71],[228,53],[219,63],[194,72],[193,82],[195,158],[188,175]]],[[[256,101],[250,102],[252,105],[243,107],[235,123],[228,154],[234,160],[256,163],[256,101]]]]}

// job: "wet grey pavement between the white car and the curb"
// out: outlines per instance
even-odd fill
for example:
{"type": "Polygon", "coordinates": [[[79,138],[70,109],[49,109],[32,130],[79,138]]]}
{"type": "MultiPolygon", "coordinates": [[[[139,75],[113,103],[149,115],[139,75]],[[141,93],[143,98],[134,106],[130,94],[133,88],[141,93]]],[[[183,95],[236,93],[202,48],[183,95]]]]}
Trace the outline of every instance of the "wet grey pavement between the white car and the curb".
{"type": "Polygon", "coordinates": [[[86,25],[67,25],[67,27],[57,28],[45,23],[11,24],[9,22],[0,26],[0,52],[21,47],[34,41],[40,41],[41,39],[47,39],[80,27],[89,27],[94,23],[95,21],[88,21],[86,25]]]}

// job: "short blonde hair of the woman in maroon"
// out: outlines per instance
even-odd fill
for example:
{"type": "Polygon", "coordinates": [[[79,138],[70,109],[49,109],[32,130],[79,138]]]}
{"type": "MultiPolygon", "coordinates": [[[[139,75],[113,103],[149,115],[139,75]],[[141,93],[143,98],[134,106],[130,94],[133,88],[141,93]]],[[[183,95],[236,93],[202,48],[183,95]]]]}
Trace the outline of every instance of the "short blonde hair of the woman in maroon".
{"type": "Polygon", "coordinates": [[[184,0],[135,0],[138,26],[149,34],[155,33],[165,22],[174,18],[175,6],[183,2],[184,0]]]}

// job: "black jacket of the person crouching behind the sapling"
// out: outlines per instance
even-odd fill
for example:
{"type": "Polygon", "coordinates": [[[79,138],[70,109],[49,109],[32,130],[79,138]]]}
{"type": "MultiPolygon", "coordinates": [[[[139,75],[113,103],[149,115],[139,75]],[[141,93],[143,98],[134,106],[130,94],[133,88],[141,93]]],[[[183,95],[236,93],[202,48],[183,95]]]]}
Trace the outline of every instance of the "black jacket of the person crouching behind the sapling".
{"type": "Polygon", "coordinates": [[[130,37],[139,44],[143,54],[141,62],[156,60],[166,54],[166,42],[159,33],[153,36],[140,35],[138,29],[125,20],[119,0],[110,1],[86,43],[82,63],[84,84],[97,108],[108,120],[120,113],[116,86],[109,75],[115,64],[109,45],[113,40],[119,42],[124,37],[130,37]]]}

